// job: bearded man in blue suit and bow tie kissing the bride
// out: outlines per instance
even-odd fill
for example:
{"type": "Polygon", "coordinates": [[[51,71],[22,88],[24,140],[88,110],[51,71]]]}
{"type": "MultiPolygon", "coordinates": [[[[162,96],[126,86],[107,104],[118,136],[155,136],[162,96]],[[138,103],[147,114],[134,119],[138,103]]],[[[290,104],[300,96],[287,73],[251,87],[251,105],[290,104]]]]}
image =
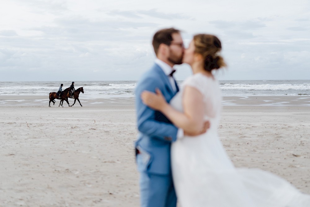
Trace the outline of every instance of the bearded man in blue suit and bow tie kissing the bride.
{"type": "MultiPolygon", "coordinates": [[[[184,54],[180,31],[174,28],[157,31],[153,37],[155,64],[140,79],[136,90],[138,140],[136,161],[140,172],[141,207],[175,207],[176,195],[171,176],[170,146],[183,130],[175,127],[161,112],[142,103],[144,90],[159,88],[169,103],[179,88],[172,74],[174,65],[182,64],[184,54]]],[[[208,123],[201,133],[206,132],[208,123]]],[[[184,132],[186,133],[186,132],[184,132]]]]}

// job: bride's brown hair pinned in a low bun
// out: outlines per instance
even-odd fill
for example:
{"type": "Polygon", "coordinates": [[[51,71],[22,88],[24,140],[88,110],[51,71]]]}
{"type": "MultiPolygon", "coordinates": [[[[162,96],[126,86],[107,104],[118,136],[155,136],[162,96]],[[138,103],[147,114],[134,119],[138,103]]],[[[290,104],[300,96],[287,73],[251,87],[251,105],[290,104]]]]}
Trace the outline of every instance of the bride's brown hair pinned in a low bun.
{"type": "Polygon", "coordinates": [[[194,36],[195,53],[201,54],[204,68],[207,71],[226,66],[224,59],[219,55],[222,49],[219,38],[211,34],[197,34],[194,36]]]}

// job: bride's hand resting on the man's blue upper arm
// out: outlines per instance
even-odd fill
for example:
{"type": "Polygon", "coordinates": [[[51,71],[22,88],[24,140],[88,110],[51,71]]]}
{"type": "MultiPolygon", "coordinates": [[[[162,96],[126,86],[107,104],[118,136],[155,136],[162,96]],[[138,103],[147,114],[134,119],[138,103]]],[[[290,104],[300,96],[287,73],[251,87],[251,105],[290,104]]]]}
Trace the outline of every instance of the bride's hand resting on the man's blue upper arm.
{"type": "Polygon", "coordinates": [[[148,107],[155,110],[163,110],[168,105],[168,103],[158,88],[156,88],[155,91],[156,93],[143,91],[141,93],[141,99],[148,107]]]}

